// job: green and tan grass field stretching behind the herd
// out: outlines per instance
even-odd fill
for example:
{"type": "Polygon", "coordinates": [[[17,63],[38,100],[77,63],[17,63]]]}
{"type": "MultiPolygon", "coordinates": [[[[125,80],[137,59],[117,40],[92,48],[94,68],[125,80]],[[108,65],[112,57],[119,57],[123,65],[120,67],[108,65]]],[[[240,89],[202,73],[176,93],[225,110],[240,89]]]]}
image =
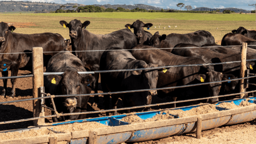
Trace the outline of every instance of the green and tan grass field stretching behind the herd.
{"type": "Polygon", "coordinates": [[[59,33],[69,39],[68,28],[59,24],[60,20],[67,22],[78,19],[81,22],[89,20],[87,29],[95,34],[108,34],[125,28],[137,19],[144,23],[152,23],[148,30],[154,34],[189,33],[197,30],[209,31],[215,40],[219,41],[226,34],[239,26],[246,29],[256,29],[254,14],[198,14],[198,13],[142,13],[142,12],[110,12],[110,13],[15,13],[0,14],[0,19],[6,23],[30,22],[34,26],[17,28],[16,33],[59,33]],[[161,24],[161,25],[159,25],[161,24]],[[156,28],[154,28],[156,26],[156,28]],[[160,28],[158,28],[160,26],[160,28]],[[168,26],[171,26],[168,28],[168,26]],[[177,26],[175,28],[175,26],[177,26]],[[164,29],[165,27],[165,29],[164,29]],[[217,29],[218,28],[218,29],[217,29]]]}

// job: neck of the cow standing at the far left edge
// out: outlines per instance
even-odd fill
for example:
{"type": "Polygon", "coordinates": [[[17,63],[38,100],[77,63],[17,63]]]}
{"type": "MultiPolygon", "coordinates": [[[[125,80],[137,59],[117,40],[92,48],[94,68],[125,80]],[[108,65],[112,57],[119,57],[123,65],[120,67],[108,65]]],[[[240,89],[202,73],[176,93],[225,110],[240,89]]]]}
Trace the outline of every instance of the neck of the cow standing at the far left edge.
{"type": "MultiPolygon", "coordinates": [[[[10,53],[13,51],[13,34],[8,31],[7,38],[5,40],[4,45],[2,45],[2,49],[0,50],[0,53],[10,53]]],[[[6,57],[8,54],[3,54],[2,58],[6,57]]]]}

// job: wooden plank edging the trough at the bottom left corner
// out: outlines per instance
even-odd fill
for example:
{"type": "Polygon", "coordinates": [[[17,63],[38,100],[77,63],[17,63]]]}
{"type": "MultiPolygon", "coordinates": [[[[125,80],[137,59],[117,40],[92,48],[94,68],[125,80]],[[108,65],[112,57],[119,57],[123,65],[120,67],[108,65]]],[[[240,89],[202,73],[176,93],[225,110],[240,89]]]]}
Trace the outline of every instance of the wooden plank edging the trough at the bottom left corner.
{"type": "Polygon", "coordinates": [[[7,140],[1,141],[0,144],[38,144],[38,143],[48,143],[49,136],[43,137],[34,137],[34,138],[26,138],[20,140],[7,140]]]}

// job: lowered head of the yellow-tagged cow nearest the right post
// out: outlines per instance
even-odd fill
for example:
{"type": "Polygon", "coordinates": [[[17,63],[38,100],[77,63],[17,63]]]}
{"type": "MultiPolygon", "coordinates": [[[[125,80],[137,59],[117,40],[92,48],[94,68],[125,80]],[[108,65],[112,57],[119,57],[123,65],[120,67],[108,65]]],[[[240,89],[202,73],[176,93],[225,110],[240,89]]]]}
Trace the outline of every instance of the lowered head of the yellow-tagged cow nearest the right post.
{"type": "MultiPolygon", "coordinates": [[[[206,74],[197,75],[196,79],[199,80],[200,82],[216,82],[216,81],[227,80],[228,77],[234,77],[234,75],[231,75],[231,74],[223,75],[221,72],[210,70],[209,72],[206,72],[206,74]]],[[[236,85],[236,84],[237,82],[232,82],[232,85],[228,85],[228,86],[230,86],[230,89],[235,89],[233,85],[236,85]]],[[[221,85],[222,85],[221,82],[208,84],[207,86],[209,90],[209,97],[218,96],[221,89],[221,85]]],[[[209,99],[210,103],[216,103],[218,101],[219,101],[219,98],[209,99]]]]}

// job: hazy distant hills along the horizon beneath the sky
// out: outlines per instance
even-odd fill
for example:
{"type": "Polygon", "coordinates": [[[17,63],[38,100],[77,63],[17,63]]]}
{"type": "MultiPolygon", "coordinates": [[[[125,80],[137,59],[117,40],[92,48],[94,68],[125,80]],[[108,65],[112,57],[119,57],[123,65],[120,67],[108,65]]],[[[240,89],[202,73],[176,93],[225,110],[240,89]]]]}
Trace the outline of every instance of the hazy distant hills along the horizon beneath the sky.
{"type": "MultiPolygon", "coordinates": [[[[47,13],[50,11],[56,11],[60,8],[60,6],[64,5],[65,7],[62,8],[63,10],[76,10],[76,8],[73,8],[73,6],[85,6],[83,4],[77,4],[77,3],[66,3],[66,4],[56,4],[56,3],[48,3],[48,2],[30,2],[30,1],[0,1],[0,12],[21,12],[21,11],[35,11],[37,13],[47,13]]],[[[99,7],[105,7],[105,8],[113,8],[117,9],[118,7],[122,7],[124,9],[145,9],[145,10],[161,10],[160,7],[154,7],[144,4],[134,4],[134,5],[111,5],[111,4],[105,4],[105,5],[98,5],[94,4],[94,6],[99,7]]],[[[220,10],[222,12],[223,10],[229,9],[231,11],[235,11],[236,13],[244,12],[244,13],[250,13],[251,11],[244,10],[244,9],[238,9],[238,8],[223,8],[223,9],[211,9],[207,7],[199,7],[192,9],[192,11],[216,11],[220,10]]],[[[165,9],[169,10],[169,9],[165,9]]],[[[176,10],[176,9],[171,9],[176,10]]]]}

